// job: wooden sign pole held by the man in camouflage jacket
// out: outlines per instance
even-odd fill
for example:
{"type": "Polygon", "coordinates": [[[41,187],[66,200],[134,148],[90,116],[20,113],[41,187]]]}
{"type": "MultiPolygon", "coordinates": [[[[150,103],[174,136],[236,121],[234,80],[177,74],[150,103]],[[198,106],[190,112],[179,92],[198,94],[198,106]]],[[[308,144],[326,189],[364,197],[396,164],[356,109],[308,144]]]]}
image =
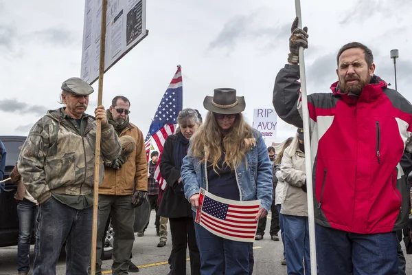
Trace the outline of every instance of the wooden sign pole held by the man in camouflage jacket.
{"type": "MultiPolygon", "coordinates": [[[[106,43],[106,10],[107,0],[102,0],[102,28],[100,33],[100,65],[99,65],[99,90],[98,106],[102,105],[103,98],[103,74],[104,74],[104,46],[106,43]]],[[[100,168],[100,138],[102,136],[102,120],[97,120],[95,171],[93,186],[93,226],[91,231],[91,262],[90,274],[96,273],[96,245],[98,237],[98,203],[99,203],[99,168],[100,168]]],[[[99,240],[101,241],[101,240],[99,240]]]]}

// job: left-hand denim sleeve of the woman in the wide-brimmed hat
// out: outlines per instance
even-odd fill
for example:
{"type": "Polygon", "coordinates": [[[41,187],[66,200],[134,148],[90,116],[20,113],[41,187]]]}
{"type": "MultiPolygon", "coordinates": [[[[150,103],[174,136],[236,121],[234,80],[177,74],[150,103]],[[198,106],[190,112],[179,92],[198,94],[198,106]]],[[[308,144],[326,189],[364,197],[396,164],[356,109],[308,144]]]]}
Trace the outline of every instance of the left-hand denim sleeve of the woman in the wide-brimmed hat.
{"type": "Polygon", "coordinates": [[[183,187],[185,188],[185,197],[190,199],[194,194],[200,192],[201,184],[196,179],[196,170],[194,169],[194,163],[198,160],[190,152],[190,147],[187,150],[189,153],[183,159],[183,165],[181,167],[181,177],[183,181],[183,187]]]}

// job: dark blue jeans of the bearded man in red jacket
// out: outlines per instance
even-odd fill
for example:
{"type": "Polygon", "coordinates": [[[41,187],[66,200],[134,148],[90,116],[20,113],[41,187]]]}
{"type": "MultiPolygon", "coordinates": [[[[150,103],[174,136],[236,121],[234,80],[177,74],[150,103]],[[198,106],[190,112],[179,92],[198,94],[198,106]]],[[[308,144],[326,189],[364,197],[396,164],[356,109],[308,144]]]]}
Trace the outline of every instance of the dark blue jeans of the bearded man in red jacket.
{"type": "Polygon", "coordinates": [[[316,241],[320,275],[398,275],[395,232],[356,234],[316,224],[316,241]]]}

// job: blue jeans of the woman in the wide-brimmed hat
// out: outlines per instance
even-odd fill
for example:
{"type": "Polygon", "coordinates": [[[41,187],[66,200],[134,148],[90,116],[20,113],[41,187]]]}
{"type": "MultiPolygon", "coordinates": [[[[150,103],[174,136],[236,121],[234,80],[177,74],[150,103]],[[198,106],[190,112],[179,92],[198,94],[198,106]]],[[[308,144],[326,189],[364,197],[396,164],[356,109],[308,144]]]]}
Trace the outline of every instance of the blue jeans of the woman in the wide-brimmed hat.
{"type": "Polygon", "coordinates": [[[194,222],[201,254],[202,275],[249,275],[253,271],[253,243],[223,239],[194,222]],[[252,265],[252,266],[249,266],[252,265]]]}

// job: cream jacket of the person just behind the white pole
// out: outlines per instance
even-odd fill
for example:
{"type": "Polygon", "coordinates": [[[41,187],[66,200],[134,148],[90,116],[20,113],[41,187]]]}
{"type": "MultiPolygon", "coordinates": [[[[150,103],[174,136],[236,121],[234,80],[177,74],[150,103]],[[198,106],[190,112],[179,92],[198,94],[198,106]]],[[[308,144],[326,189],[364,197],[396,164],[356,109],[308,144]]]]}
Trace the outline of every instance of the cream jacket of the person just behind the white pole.
{"type": "MultiPolygon", "coordinates": [[[[294,142],[292,142],[293,146],[294,142]]],[[[296,146],[296,142],[295,142],[296,146]]],[[[282,165],[278,179],[286,183],[285,198],[282,203],[280,212],[292,216],[308,217],[308,197],[306,192],[301,189],[306,180],[305,168],[305,153],[296,150],[289,150],[286,148],[282,158],[282,165]],[[290,151],[295,151],[293,155],[289,155],[290,151]]]]}

